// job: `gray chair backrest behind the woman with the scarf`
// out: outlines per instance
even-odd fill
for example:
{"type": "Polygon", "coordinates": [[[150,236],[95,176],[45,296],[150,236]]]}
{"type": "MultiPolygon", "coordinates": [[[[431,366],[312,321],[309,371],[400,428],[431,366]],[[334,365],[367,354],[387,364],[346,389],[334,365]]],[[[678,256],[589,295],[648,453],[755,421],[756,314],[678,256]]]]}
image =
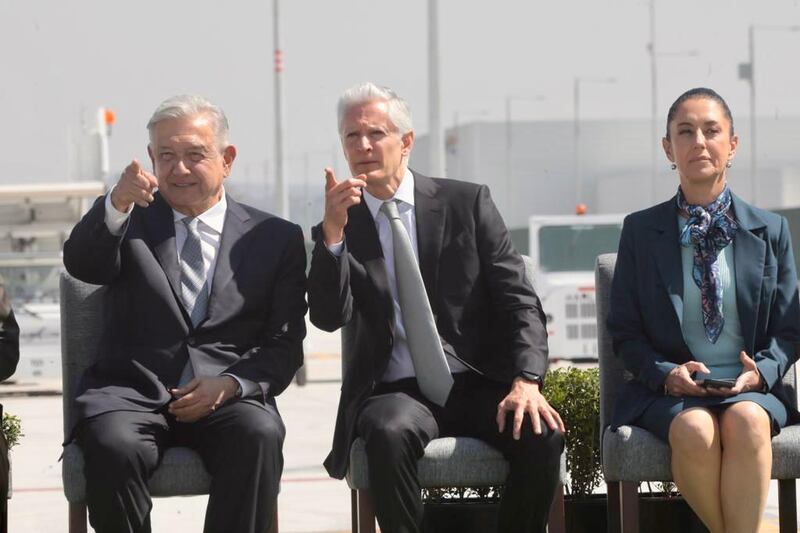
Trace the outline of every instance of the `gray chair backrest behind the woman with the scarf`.
{"type": "MultiPolygon", "coordinates": [[[[625,381],[625,368],[614,355],[611,336],[606,328],[609,303],[611,298],[611,281],[614,279],[614,267],[617,254],[598,256],[595,266],[595,295],[597,301],[597,351],[600,365],[600,424],[605,428],[611,423],[614,414],[614,403],[617,391],[625,381]]],[[[783,385],[788,389],[787,400],[797,406],[797,365],[792,365],[783,376],[783,385]]]]}

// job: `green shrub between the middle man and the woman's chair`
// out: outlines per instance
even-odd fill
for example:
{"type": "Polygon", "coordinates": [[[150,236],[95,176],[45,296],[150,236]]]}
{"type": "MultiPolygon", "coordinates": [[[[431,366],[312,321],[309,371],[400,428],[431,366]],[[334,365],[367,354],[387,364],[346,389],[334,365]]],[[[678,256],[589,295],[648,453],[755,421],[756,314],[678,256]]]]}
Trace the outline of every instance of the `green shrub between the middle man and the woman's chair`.
{"type": "Polygon", "coordinates": [[[597,368],[547,372],[544,395],[567,429],[569,492],[591,494],[603,481],[600,462],[600,374],[597,368]]]}

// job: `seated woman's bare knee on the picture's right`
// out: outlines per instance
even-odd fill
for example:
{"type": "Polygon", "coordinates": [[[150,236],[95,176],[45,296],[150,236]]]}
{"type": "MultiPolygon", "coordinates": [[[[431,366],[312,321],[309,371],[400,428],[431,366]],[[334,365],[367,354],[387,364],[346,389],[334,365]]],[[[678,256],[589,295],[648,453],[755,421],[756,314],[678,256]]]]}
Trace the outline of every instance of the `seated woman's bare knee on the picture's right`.
{"type": "Polygon", "coordinates": [[[755,402],[731,405],[720,415],[719,425],[723,448],[754,452],[770,445],[769,415],[755,402]]]}

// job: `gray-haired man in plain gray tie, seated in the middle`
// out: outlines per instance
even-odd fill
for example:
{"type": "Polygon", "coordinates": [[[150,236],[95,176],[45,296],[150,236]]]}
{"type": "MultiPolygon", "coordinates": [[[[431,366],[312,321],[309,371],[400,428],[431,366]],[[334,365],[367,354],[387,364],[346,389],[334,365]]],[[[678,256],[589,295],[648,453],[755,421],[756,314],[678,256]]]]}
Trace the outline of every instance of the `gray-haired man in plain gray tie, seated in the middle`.
{"type": "Polygon", "coordinates": [[[425,446],[476,437],[510,461],[499,531],[543,533],[564,425],[540,391],[544,313],[489,190],[408,169],[411,113],[391,89],[357,85],[338,114],[352,177],[325,170],[308,280],[311,321],[347,325],[350,344],[325,466],[344,477],[362,437],[381,531],[418,532],[425,446]]]}

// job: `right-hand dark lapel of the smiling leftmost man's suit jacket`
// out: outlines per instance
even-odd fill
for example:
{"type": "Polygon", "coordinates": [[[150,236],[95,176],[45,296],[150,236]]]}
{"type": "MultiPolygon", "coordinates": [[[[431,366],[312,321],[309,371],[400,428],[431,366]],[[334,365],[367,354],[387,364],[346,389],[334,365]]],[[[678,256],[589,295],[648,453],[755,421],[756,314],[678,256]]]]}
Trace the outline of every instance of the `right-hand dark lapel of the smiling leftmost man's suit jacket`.
{"type": "Polygon", "coordinates": [[[211,282],[211,294],[208,300],[208,317],[213,318],[222,305],[222,295],[233,279],[233,273],[244,259],[246,246],[235,246],[250,226],[250,215],[238,202],[226,195],[228,208],[225,212],[225,224],[220,235],[217,262],[211,282]]]}

